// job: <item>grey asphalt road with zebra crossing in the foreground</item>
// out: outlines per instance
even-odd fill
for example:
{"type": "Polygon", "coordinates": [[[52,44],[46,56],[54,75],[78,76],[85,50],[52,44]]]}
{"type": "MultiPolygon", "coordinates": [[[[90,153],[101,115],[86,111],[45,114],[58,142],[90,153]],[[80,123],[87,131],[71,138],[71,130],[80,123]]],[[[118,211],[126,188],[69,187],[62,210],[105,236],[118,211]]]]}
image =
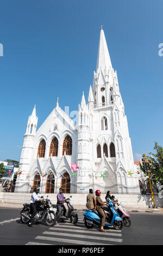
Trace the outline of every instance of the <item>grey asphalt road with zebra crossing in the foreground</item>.
{"type": "Polygon", "coordinates": [[[163,214],[131,213],[131,227],[122,231],[98,228],[86,229],[83,212],[78,212],[79,221],[70,221],[49,228],[46,225],[28,227],[20,222],[20,210],[0,209],[0,245],[162,245],[163,214]]]}

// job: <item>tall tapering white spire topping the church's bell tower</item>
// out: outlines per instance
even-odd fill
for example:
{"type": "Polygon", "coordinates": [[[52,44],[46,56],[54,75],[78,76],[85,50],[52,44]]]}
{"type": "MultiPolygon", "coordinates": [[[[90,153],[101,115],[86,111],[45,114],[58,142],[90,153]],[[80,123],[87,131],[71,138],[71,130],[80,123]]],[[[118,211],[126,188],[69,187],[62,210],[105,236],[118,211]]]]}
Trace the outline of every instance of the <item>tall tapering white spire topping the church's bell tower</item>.
{"type": "Polygon", "coordinates": [[[106,44],[106,39],[104,35],[104,31],[101,27],[100,38],[99,38],[99,46],[98,46],[98,57],[97,57],[97,66],[96,73],[98,73],[99,69],[109,69],[112,68],[110,55],[108,51],[108,46],[106,44]]]}

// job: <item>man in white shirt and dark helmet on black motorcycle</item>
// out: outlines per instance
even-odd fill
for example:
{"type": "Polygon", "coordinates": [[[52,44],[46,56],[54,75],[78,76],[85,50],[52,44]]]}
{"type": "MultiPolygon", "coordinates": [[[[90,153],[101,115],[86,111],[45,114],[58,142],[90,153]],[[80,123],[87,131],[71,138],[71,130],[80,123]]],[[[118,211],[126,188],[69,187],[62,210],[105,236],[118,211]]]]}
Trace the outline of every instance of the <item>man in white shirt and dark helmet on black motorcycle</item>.
{"type": "Polygon", "coordinates": [[[35,187],[34,192],[31,196],[31,200],[30,200],[30,214],[31,214],[31,218],[30,221],[28,223],[29,227],[33,227],[33,219],[35,217],[35,213],[36,213],[36,201],[40,201],[42,203],[41,195],[39,194],[40,192],[40,187],[35,187]]]}

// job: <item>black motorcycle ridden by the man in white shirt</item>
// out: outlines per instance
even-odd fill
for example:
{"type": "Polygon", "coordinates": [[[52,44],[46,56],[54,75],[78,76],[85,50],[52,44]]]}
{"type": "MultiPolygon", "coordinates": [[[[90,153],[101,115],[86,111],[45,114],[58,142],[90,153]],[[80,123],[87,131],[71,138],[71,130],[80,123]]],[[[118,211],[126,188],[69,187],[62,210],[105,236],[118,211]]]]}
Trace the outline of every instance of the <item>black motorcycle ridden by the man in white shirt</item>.
{"type": "MultiPolygon", "coordinates": [[[[41,197],[41,199],[43,200],[42,203],[36,202],[36,213],[34,217],[34,222],[45,222],[46,225],[48,225],[49,227],[53,227],[56,222],[56,209],[52,208],[52,203],[51,200],[48,199],[48,195],[46,199],[44,199],[43,197],[41,197]]],[[[27,224],[29,223],[31,217],[30,204],[24,203],[23,206],[24,207],[20,212],[21,222],[27,224]]]]}

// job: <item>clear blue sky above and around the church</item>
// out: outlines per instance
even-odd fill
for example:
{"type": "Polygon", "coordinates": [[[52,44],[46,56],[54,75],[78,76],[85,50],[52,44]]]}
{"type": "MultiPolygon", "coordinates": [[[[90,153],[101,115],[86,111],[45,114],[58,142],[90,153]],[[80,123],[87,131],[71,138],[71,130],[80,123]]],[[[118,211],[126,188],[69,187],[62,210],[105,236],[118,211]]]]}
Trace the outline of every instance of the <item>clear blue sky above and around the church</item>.
{"type": "Polygon", "coordinates": [[[1,1],[0,160],[20,160],[28,116],[38,127],[59,97],[78,110],[96,69],[101,25],[118,82],[134,160],[163,146],[162,0],[1,1]]]}

